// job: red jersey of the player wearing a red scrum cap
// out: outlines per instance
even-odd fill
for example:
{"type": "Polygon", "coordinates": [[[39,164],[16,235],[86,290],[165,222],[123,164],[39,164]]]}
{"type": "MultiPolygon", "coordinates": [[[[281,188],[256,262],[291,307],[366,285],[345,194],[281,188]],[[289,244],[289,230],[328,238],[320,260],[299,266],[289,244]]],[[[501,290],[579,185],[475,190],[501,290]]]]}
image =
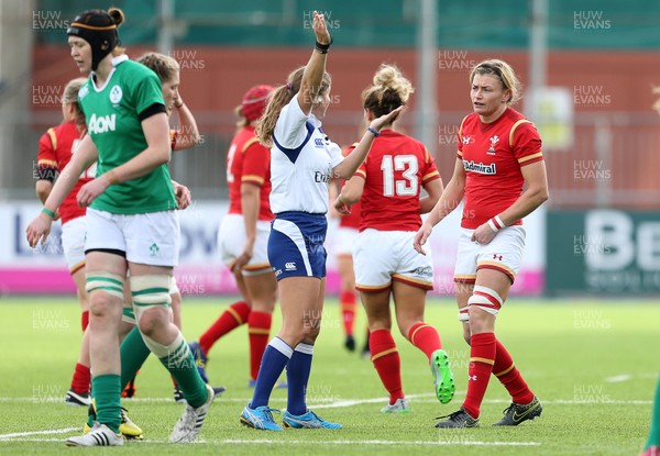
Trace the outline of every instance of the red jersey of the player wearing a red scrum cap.
{"type": "Polygon", "coordinates": [[[248,125],[234,136],[227,153],[229,213],[242,214],[241,183],[261,188],[258,220],[273,220],[271,212],[271,151],[254,137],[254,126],[248,125]]]}

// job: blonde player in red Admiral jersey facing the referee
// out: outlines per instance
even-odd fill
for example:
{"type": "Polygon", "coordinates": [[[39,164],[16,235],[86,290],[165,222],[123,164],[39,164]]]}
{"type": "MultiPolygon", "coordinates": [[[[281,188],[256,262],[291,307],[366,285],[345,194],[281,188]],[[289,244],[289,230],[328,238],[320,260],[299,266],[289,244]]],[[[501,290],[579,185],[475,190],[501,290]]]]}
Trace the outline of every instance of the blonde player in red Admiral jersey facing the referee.
{"type": "Polygon", "coordinates": [[[495,337],[495,319],[520,267],[521,219],[548,199],[548,178],[536,127],[510,108],[520,97],[513,68],[497,59],[481,62],[470,85],[474,112],[459,129],[453,176],[415,236],[415,248],[424,254],[432,227],[465,198],[454,281],[459,320],[471,346],[468,394],[461,409],[436,427],[476,425],[491,374],[513,398],[495,425],[515,426],[540,416],[542,408],[495,337]]]}

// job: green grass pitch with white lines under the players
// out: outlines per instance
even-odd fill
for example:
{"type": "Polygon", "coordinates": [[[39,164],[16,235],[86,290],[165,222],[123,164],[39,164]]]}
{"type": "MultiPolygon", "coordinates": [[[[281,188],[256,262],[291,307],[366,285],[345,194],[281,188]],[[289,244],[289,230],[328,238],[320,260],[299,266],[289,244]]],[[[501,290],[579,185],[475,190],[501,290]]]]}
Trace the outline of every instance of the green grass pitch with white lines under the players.
{"type": "MultiPolygon", "coordinates": [[[[229,299],[184,299],[184,334],[197,338],[229,299]]],[[[360,311],[362,312],[362,311],[360,311]]],[[[86,410],[67,407],[80,340],[75,299],[0,299],[0,454],[70,454],[63,441],[80,432],[86,410]]],[[[507,303],[497,334],[514,356],[543,414],[514,429],[492,427],[508,405],[506,390],[493,377],[480,427],[437,430],[435,418],[455,411],[464,398],[470,351],[462,340],[452,300],[432,300],[427,321],[440,331],[450,355],[458,391],[441,405],[432,393],[431,372],[421,352],[395,331],[402,355],[404,391],[413,413],[384,415],[386,393],[371,362],[343,348],[334,299],[323,311],[315,348],[308,404],[341,431],[256,432],[239,424],[251,398],[248,336],[240,327],[210,353],[211,383],[228,388],[209,412],[198,443],[169,445],[167,437],[183,405],[153,357],[138,376],[138,396],[124,401],[145,441],[95,454],[235,455],[636,455],[646,441],[652,394],[660,367],[660,307],[652,302],[534,301],[507,303]]],[[[278,310],[274,331],[279,325],[278,310]]],[[[356,321],[359,345],[364,316],[356,321]]],[[[275,390],[271,405],[284,409],[286,391],[275,390]]],[[[276,420],[278,415],[275,415],[276,420]]]]}

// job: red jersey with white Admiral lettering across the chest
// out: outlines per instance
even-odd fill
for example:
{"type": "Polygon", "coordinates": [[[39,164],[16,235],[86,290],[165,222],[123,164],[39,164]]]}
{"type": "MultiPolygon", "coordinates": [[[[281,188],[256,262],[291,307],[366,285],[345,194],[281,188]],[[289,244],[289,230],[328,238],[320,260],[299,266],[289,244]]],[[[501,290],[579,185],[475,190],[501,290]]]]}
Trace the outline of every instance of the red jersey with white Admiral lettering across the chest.
{"type": "Polygon", "coordinates": [[[483,123],[476,113],[466,115],[458,136],[466,176],[461,226],[473,230],[520,197],[525,183],[520,168],[543,159],[541,138],[534,124],[512,108],[493,123],[483,123]]]}

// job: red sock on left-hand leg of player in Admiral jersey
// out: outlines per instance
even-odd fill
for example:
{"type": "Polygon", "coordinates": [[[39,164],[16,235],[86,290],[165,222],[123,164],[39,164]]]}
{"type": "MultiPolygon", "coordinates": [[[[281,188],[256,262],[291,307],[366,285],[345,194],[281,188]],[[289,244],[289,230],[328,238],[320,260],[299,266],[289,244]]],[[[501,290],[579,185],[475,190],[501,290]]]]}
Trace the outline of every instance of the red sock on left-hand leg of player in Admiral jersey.
{"type": "Polygon", "coordinates": [[[488,388],[495,364],[496,343],[495,333],[474,334],[470,340],[468,394],[463,407],[472,418],[479,418],[479,408],[488,388]]]}

